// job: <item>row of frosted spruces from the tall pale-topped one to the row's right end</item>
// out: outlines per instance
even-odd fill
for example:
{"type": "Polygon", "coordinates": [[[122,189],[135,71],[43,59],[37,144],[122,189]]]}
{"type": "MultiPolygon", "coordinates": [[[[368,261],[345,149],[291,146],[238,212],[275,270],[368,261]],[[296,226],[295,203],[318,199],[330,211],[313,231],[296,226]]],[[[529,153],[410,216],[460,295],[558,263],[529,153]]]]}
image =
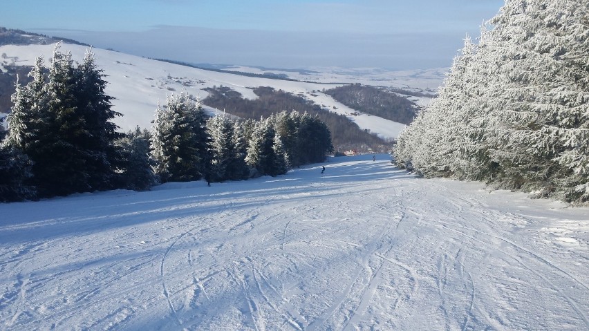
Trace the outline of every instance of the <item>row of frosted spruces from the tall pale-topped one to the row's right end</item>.
{"type": "Polygon", "coordinates": [[[259,121],[207,119],[200,102],[185,93],[158,107],[151,146],[162,182],[277,176],[323,162],[333,151],[330,131],[317,116],[282,111],[259,121]]]}

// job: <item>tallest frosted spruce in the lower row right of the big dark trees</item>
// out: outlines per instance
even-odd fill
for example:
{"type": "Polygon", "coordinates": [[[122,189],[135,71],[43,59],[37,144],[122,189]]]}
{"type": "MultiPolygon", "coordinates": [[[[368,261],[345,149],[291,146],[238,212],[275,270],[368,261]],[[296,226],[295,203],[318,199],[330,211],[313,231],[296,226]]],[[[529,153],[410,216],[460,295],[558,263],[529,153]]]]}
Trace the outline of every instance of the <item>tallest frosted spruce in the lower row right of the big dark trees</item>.
{"type": "Polygon", "coordinates": [[[162,182],[187,182],[208,176],[207,116],[200,102],[182,92],[156,110],[151,153],[162,182]]]}

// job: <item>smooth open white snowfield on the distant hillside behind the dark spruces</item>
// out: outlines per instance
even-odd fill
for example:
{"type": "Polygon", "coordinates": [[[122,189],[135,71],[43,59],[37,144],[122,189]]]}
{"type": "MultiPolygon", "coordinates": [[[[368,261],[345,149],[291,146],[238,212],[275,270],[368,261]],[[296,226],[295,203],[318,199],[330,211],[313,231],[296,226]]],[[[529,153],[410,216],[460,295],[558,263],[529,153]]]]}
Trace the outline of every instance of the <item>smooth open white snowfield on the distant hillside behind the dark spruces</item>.
{"type": "MultiPolygon", "coordinates": [[[[48,62],[53,55],[53,48],[54,45],[0,46],[0,54],[6,54],[6,57],[3,57],[0,61],[0,67],[7,64],[30,66],[34,64],[36,57],[39,55],[42,55],[46,62],[48,62]]],[[[62,45],[62,50],[71,51],[73,58],[77,61],[82,59],[86,49],[85,46],[62,45]]],[[[109,86],[106,89],[106,93],[117,98],[113,102],[113,110],[124,114],[123,117],[115,120],[115,123],[121,126],[124,131],[134,129],[136,125],[146,129],[150,128],[158,102],[165,103],[166,96],[171,93],[179,93],[185,90],[187,93],[204,98],[207,93],[202,91],[203,88],[221,85],[229,86],[247,98],[256,97],[252,88],[258,86],[272,86],[273,88],[294,94],[302,93],[308,99],[313,100],[317,104],[324,105],[325,108],[329,108],[331,111],[347,115],[361,129],[368,129],[373,133],[377,133],[382,138],[395,138],[398,136],[400,130],[404,128],[403,124],[384,120],[380,117],[351,115],[355,113],[353,109],[339,104],[339,102],[333,100],[329,95],[318,93],[324,88],[335,86],[320,84],[333,81],[330,76],[332,73],[314,75],[312,81],[317,83],[291,82],[217,73],[209,70],[159,62],[153,59],[145,59],[111,50],[93,49],[93,51],[96,54],[97,64],[108,75],[106,80],[109,82],[109,86]],[[314,97],[313,95],[319,95],[319,97],[314,97]]],[[[437,71],[435,72],[438,73],[437,71]]],[[[409,73],[402,73],[400,75],[409,79],[406,82],[403,81],[400,84],[401,86],[414,84],[411,86],[420,87],[421,84],[426,84],[423,83],[426,80],[427,86],[437,88],[443,78],[443,75],[440,74],[436,83],[436,75],[424,75],[422,79],[417,74],[415,74],[415,77],[409,77],[411,76],[409,73]]],[[[357,79],[359,79],[358,75],[347,77],[346,79],[345,75],[338,75],[337,79],[341,79],[342,82],[357,82],[357,79]]],[[[367,81],[370,79],[370,77],[366,78],[367,81]]],[[[390,74],[389,79],[392,82],[398,78],[390,74]]],[[[216,110],[209,108],[209,111],[216,110]]]]}

